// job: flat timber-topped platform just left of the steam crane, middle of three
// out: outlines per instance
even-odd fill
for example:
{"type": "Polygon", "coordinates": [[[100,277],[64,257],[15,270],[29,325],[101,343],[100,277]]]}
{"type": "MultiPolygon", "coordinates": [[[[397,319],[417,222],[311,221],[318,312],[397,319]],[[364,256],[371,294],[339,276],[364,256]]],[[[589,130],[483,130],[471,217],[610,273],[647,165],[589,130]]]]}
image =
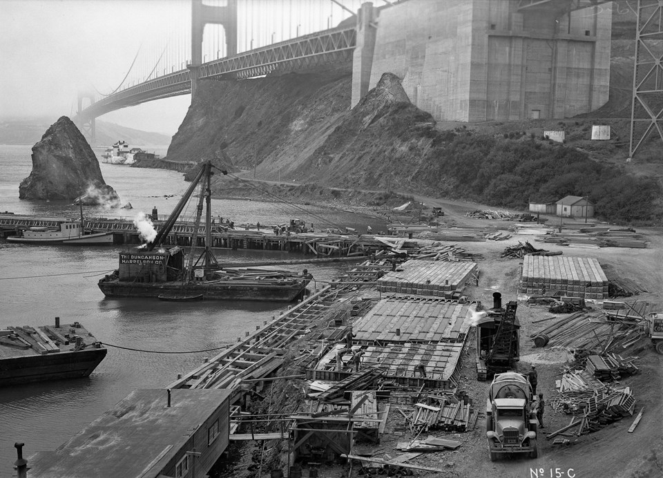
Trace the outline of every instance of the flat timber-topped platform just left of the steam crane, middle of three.
{"type": "Polygon", "coordinates": [[[457,300],[394,296],[380,300],[352,328],[359,343],[456,342],[464,340],[471,318],[470,304],[457,300]]]}

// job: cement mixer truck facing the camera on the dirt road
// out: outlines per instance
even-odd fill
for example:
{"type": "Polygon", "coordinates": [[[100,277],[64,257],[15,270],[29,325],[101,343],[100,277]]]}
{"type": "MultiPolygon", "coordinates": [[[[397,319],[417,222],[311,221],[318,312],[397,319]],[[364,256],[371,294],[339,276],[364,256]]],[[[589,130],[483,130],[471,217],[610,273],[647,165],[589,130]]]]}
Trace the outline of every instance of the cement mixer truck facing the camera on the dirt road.
{"type": "Polygon", "coordinates": [[[486,400],[486,438],[490,461],[503,453],[537,457],[537,417],[532,410],[532,388],[516,372],[495,375],[486,400]]]}

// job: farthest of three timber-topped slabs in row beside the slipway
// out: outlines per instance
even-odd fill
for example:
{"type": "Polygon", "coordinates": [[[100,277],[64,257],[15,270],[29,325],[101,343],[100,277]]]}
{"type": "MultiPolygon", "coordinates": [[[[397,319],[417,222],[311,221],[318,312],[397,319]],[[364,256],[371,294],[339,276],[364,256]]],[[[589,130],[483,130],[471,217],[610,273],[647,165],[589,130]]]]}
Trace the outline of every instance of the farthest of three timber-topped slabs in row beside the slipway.
{"type": "Polygon", "coordinates": [[[463,290],[465,283],[476,281],[479,274],[476,262],[412,259],[399,269],[378,279],[379,291],[452,298],[454,291],[463,290]]]}

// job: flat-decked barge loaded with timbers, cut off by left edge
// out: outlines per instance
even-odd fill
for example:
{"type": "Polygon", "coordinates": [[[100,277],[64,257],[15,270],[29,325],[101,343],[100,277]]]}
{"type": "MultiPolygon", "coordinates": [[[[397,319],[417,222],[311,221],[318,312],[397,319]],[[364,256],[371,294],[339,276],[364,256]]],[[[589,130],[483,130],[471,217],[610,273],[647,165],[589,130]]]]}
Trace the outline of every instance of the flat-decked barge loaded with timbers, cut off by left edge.
{"type": "Polygon", "coordinates": [[[0,329],[0,386],[90,375],[108,350],[80,323],[0,329]]]}

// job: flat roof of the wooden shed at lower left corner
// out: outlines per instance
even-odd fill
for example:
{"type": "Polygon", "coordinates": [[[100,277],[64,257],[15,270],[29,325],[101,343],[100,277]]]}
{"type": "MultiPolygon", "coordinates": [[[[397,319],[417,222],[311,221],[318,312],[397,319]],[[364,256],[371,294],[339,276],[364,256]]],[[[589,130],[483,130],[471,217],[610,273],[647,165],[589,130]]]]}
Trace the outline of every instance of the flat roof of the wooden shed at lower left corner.
{"type": "MultiPolygon", "coordinates": [[[[28,458],[30,478],[158,477],[229,390],[134,390],[53,452],[28,458]]],[[[202,450],[201,450],[202,451],[202,450]]]]}

